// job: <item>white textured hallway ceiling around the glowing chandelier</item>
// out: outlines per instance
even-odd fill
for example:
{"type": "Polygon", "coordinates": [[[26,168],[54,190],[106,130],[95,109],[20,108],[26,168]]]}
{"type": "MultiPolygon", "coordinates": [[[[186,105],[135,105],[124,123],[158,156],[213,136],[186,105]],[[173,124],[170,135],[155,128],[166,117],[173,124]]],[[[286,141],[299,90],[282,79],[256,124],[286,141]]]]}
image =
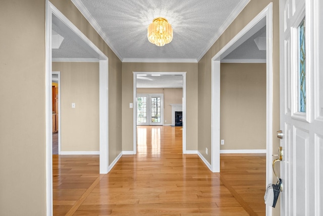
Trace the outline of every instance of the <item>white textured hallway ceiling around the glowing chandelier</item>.
{"type": "Polygon", "coordinates": [[[72,2],[123,62],[197,62],[248,0],[72,2]],[[147,39],[147,27],[156,17],[165,17],[173,27],[173,41],[163,47],[147,39]]]}

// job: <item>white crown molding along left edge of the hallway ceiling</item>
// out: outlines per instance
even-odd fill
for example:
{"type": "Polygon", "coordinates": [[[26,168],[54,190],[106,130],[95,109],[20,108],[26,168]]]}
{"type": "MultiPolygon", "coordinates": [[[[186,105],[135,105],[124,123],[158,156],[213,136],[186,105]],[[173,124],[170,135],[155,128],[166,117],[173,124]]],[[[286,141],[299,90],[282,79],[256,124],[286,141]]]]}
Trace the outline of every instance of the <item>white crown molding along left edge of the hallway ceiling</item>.
{"type": "Polygon", "coordinates": [[[104,34],[101,27],[97,24],[97,22],[92,17],[90,12],[85,8],[83,3],[80,0],[71,0],[71,1],[75,5],[75,7],[81,12],[81,14],[85,17],[85,19],[90,23],[90,25],[94,28],[94,30],[102,37],[105,43],[112,49],[112,51],[116,54],[116,56],[120,59],[120,61],[122,61],[123,58],[121,57],[120,53],[112,45],[112,42],[110,41],[110,39],[104,34]]]}

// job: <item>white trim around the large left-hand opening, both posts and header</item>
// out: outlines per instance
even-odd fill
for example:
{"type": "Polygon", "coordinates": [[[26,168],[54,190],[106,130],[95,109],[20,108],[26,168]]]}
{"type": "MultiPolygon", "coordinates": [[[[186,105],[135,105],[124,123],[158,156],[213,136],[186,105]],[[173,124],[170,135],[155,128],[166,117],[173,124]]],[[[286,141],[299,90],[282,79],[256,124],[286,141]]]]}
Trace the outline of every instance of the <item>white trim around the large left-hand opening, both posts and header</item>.
{"type": "MultiPolygon", "coordinates": [[[[45,21],[45,135],[46,135],[46,215],[50,216],[52,215],[52,110],[51,110],[51,63],[52,63],[52,57],[51,57],[51,25],[52,25],[52,15],[55,15],[60,21],[64,23],[68,28],[70,28],[77,36],[78,40],[81,42],[86,43],[90,49],[97,53],[100,59],[99,64],[99,76],[101,78],[101,75],[104,73],[104,76],[108,76],[108,58],[104,55],[104,53],[95,46],[95,44],[90,41],[76,26],[68,20],[55,6],[53,6],[48,0],[45,2],[46,4],[46,21],[45,21]]],[[[106,138],[108,136],[109,131],[109,110],[107,108],[109,107],[107,105],[109,98],[107,96],[107,87],[108,82],[106,79],[106,83],[104,83],[104,88],[101,86],[103,82],[100,81],[99,86],[99,94],[100,94],[100,173],[107,173],[109,170],[106,166],[106,169],[102,171],[103,166],[102,161],[106,161],[106,163],[109,163],[109,139],[106,138]],[[105,89],[106,88],[106,89],[105,89]],[[102,90],[103,89],[103,90],[102,90]],[[103,91],[103,92],[102,92],[103,91]],[[106,92],[106,93],[105,93],[106,92]],[[101,101],[101,95],[105,94],[106,97],[101,101]],[[101,103],[106,104],[106,106],[101,106],[101,103]],[[103,107],[106,107],[106,110],[103,111],[103,107]],[[102,112],[101,112],[102,111],[102,112]],[[105,113],[105,116],[101,116],[102,113],[105,113]],[[106,117],[106,118],[105,118],[106,117]],[[102,125],[104,125],[104,128],[102,128],[102,125]],[[102,142],[104,140],[104,143],[102,142]],[[106,150],[102,150],[101,147],[104,147],[106,150]]]]}

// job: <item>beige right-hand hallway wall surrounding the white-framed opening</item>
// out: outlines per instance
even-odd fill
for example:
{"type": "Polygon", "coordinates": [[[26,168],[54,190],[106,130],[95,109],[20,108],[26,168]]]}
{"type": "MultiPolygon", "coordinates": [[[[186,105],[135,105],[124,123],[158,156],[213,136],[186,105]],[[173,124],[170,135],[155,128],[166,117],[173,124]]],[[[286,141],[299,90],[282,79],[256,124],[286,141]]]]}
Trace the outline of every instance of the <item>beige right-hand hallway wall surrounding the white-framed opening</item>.
{"type": "MultiPolygon", "coordinates": [[[[268,4],[273,3],[273,132],[280,130],[279,119],[279,0],[250,0],[221,37],[198,62],[198,151],[211,163],[205,148],[211,147],[211,58],[216,55],[268,4]]],[[[273,133],[273,153],[277,153],[279,140],[273,133]]],[[[279,215],[279,206],[273,215],[279,215]]]]}

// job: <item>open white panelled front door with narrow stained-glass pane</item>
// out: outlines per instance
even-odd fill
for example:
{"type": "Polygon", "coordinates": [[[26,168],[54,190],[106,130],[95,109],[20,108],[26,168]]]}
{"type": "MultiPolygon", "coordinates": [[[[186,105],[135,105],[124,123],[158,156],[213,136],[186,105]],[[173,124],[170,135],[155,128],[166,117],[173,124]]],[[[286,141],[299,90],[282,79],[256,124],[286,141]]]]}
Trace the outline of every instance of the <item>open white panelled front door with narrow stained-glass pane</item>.
{"type": "Polygon", "coordinates": [[[281,215],[323,215],[323,3],[280,4],[281,215]]]}

